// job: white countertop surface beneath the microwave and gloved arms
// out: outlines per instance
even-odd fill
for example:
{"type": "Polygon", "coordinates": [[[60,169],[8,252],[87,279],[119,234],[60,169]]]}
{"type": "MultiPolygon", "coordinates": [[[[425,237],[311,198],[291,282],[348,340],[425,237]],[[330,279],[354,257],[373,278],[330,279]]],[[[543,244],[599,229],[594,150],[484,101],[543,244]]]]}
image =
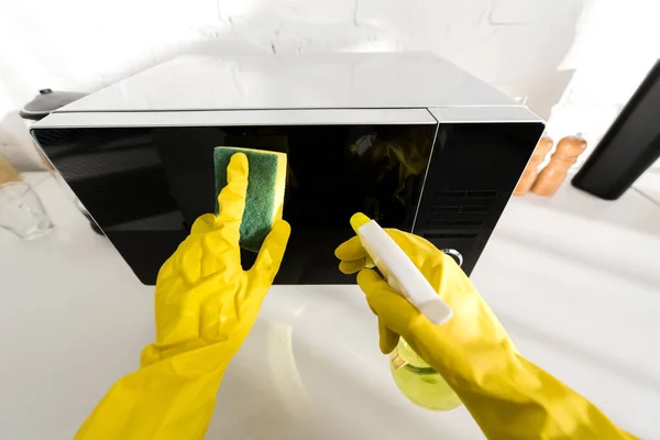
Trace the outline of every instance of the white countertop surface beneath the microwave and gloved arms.
{"type": "MultiPolygon", "coordinates": [[[[0,430],[70,438],[154,338],[153,287],[46,175],[56,224],[0,230],[0,430]]],[[[660,438],[660,207],[569,185],[514,199],[472,276],[524,355],[642,438],[660,438]]],[[[207,438],[479,439],[464,407],[420,409],[378,352],[355,286],[275,286],[220,388],[207,438]]]]}

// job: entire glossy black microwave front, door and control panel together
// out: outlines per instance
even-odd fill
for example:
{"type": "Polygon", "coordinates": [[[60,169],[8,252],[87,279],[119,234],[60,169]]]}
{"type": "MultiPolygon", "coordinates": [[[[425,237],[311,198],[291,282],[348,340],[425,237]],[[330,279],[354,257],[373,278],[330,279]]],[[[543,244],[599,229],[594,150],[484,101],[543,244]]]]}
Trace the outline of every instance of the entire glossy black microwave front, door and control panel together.
{"type": "MultiPolygon", "coordinates": [[[[216,208],[213,148],[287,153],[278,284],[350,284],[334,249],[364,212],[461,253],[470,273],[541,123],[48,128],[34,136],[144,284],[216,208]]],[[[243,251],[249,268],[256,254],[243,251]]]]}

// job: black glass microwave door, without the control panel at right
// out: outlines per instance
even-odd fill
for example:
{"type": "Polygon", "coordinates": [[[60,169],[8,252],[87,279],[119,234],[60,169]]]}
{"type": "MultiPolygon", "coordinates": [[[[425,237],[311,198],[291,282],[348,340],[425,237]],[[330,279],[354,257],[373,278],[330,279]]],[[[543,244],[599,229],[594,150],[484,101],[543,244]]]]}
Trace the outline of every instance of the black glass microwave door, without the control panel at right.
{"type": "MultiPolygon", "coordinates": [[[[334,249],[358,211],[411,231],[435,124],[160,127],[40,130],[36,138],[140,279],[161,264],[195,219],[213,212],[213,148],[287,153],[284,218],[293,233],[277,282],[352,283],[334,249]]],[[[249,267],[255,254],[243,252],[249,267]]]]}

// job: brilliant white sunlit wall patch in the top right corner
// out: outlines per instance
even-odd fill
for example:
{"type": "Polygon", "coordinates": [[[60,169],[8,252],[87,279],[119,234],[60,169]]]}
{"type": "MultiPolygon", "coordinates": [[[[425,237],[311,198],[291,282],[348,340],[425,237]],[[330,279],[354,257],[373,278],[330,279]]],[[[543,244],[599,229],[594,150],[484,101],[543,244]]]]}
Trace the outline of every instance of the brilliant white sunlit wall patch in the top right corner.
{"type": "Polygon", "coordinates": [[[560,65],[575,72],[551,111],[548,130],[559,139],[581,132],[587,152],[601,140],[660,56],[660,2],[607,0],[585,4],[576,38],[560,65]]]}

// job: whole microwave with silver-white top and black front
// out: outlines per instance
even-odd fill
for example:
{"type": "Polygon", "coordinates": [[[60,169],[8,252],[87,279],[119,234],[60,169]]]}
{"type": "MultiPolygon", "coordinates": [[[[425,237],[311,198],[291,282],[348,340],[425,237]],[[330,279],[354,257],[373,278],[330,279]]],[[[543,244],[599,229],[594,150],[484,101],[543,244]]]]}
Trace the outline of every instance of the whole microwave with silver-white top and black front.
{"type": "Polygon", "coordinates": [[[32,127],[144,284],[213,212],[220,145],[288,155],[293,232],[276,283],[353,283],[333,251],[358,211],[425,237],[470,274],[542,131],[453,64],[408,53],[184,56],[32,127]]]}

